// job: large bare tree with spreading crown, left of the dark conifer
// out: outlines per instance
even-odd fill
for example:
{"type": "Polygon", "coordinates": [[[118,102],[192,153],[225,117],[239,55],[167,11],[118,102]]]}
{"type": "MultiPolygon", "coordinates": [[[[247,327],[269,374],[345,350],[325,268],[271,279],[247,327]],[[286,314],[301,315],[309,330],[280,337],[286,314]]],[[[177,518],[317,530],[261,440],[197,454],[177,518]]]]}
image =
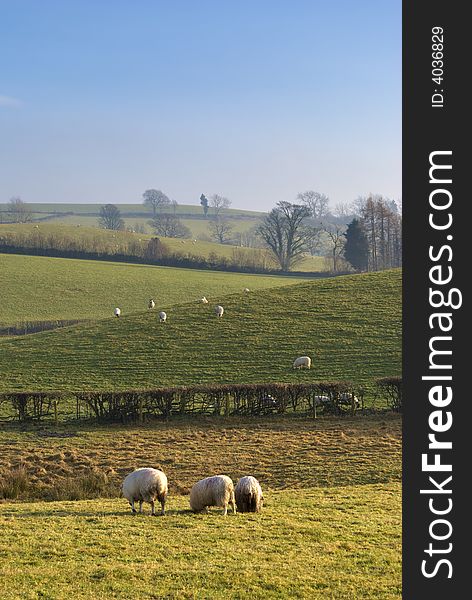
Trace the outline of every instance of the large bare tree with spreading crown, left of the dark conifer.
{"type": "Polygon", "coordinates": [[[278,202],[258,227],[258,234],[283,271],[289,271],[302,258],[309,236],[304,221],[309,214],[307,206],[278,202]]]}

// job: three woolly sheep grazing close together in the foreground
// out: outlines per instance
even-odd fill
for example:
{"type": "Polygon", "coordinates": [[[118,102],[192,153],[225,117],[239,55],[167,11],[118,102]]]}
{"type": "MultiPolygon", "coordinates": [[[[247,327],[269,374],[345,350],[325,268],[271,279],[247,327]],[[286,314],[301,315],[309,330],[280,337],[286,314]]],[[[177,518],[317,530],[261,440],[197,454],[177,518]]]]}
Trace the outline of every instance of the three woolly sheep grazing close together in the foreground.
{"type": "MultiPolygon", "coordinates": [[[[155,516],[156,500],[161,504],[161,515],[165,514],[165,504],[168,494],[167,476],[163,471],[152,468],[136,469],[127,475],[121,486],[123,496],[131,506],[131,512],[138,512],[135,503],[139,502],[139,512],[143,512],[143,502],[151,505],[151,515],[155,516]]],[[[190,491],[190,508],[193,512],[208,512],[208,507],[223,508],[223,515],[231,506],[239,512],[259,512],[262,509],[264,497],[262,488],[255,477],[246,476],[234,486],[230,477],[214,475],[197,481],[190,491]]]]}

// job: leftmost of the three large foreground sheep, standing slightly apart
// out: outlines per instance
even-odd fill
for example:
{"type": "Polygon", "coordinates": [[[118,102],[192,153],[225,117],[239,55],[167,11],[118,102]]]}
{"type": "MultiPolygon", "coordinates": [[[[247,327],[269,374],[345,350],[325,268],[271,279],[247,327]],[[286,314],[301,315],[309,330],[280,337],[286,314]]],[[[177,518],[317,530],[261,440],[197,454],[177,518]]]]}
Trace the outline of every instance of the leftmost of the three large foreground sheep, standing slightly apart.
{"type": "Polygon", "coordinates": [[[165,504],[168,493],[167,477],[158,469],[142,468],[136,469],[127,475],[121,486],[123,496],[131,506],[131,512],[136,513],[134,503],[139,501],[139,512],[143,512],[143,502],[151,505],[151,515],[156,516],[154,503],[161,503],[161,515],[165,514],[165,504]]]}

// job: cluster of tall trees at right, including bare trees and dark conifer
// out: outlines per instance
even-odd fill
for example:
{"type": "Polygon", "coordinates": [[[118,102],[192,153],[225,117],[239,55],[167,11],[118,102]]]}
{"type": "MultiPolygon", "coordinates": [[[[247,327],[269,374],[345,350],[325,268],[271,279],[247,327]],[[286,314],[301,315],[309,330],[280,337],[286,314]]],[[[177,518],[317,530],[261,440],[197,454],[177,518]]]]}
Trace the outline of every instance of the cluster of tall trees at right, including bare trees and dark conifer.
{"type": "Polygon", "coordinates": [[[394,201],[378,195],[358,198],[333,214],[324,194],[308,191],[297,200],[278,202],[257,230],[282,271],[293,270],[321,245],[333,272],[401,266],[402,217],[394,201]]]}

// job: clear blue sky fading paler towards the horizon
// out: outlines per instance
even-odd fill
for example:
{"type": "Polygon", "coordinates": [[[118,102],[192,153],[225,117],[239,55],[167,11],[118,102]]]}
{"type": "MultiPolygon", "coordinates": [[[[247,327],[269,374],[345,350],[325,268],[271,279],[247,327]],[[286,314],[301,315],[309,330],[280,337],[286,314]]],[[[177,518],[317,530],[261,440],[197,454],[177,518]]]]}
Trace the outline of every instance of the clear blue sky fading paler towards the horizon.
{"type": "Polygon", "coordinates": [[[401,197],[399,0],[0,0],[0,202],[401,197]]]}

